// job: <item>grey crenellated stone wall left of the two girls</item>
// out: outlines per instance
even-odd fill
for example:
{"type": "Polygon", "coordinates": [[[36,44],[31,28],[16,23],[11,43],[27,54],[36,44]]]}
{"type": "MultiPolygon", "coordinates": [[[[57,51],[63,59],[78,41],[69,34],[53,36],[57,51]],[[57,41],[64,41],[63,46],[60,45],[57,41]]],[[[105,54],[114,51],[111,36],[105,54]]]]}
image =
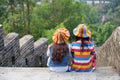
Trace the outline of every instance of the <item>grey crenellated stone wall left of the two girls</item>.
{"type": "Polygon", "coordinates": [[[48,39],[40,38],[34,42],[31,35],[19,39],[19,34],[3,34],[0,25],[0,66],[3,67],[40,67],[46,66],[48,39]]]}

